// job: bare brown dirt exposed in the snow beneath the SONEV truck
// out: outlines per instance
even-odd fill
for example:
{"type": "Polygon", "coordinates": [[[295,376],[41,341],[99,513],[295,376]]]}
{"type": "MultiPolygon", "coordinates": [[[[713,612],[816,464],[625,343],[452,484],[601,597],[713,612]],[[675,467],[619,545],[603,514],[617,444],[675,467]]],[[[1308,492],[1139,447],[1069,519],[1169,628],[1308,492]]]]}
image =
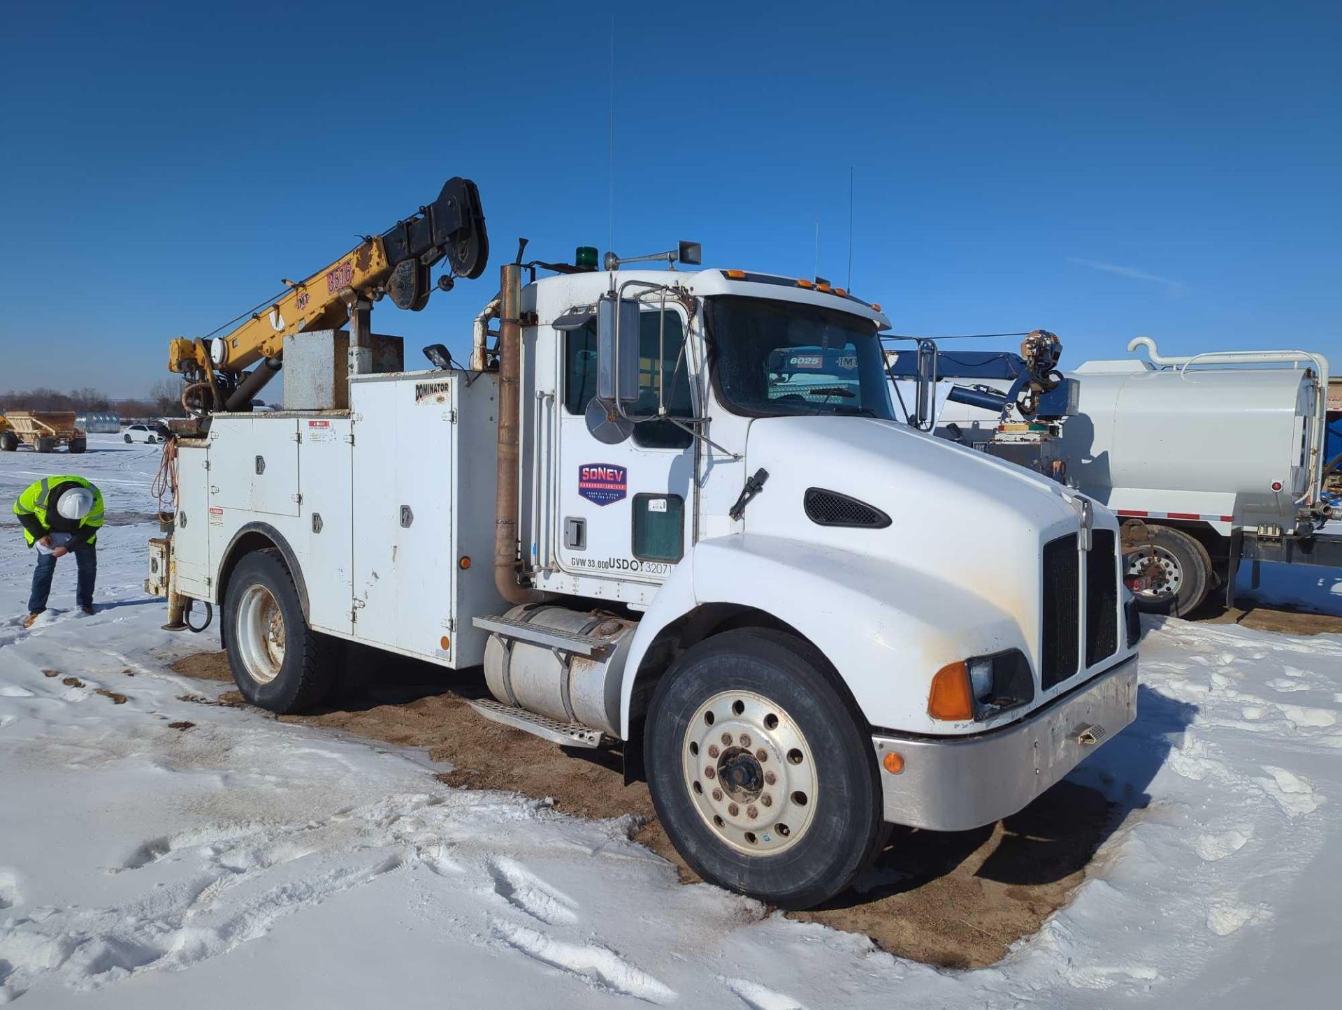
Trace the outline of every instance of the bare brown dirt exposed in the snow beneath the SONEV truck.
{"type": "MultiPolygon", "coordinates": [[[[221,652],[189,656],[173,669],[231,680],[221,652]]],[[[633,837],[674,862],[682,880],[695,879],[658,824],[647,786],[624,785],[617,751],[560,754],[552,743],[476,715],[466,699],[484,691],[471,672],[380,657],[377,675],[376,688],[350,691],[338,708],[279,720],[425,747],[433,761],[454,766],[437,777],[451,786],[552,798],[556,809],[577,817],[633,814],[641,824],[633,837]]],[[[933,964],[992,964],[1067,904],[1115,820],[1117,809],[1099,793],[1064,782],[977,832],[896,828],[852,891],[790,917],[864,934],[892,954],[933,964]]]]}

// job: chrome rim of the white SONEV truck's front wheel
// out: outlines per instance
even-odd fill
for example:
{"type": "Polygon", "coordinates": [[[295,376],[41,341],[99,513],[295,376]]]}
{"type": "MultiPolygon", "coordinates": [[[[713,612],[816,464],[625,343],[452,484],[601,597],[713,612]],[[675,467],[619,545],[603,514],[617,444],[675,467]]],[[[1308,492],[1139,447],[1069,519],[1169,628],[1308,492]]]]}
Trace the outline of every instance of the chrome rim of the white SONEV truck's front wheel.
{"type": "Polygon", "coordinates": [[[722,691],[699,706],[684,731],[682,769],[705,825],[738,852],[786,852],[815,818],[811,746],[781,706],[753,691],[722,691]]]}

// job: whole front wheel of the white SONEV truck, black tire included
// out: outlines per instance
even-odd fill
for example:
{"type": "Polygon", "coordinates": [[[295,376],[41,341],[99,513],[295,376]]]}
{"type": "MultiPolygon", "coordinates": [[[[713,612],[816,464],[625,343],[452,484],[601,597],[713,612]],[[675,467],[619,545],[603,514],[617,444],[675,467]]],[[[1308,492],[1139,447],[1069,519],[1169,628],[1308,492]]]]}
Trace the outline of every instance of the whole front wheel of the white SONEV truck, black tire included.
{"type": "Polygon", "coordinates": [[[782,632],[723,632],[676,660],[648,708],[644,762],[684,861],[780,908],[849,887],[882,837],[871,739],[824,657],[782,632]]]}

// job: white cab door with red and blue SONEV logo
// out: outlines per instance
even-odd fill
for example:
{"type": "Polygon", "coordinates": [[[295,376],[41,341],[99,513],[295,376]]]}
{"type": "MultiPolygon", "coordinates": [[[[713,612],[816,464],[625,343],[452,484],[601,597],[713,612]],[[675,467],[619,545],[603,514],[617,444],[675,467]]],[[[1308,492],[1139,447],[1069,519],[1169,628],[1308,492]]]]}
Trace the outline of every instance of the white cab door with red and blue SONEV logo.
{"type": "MultiPolygon", "coordinates": [[[[629,414],[656,413],[660,376],[667,412],[692,417],[682,308],[648,306],[639,322],[639,400],[629,414]]],[[[585,418],[596,394],[596,321],[561,333],[560,351],[550,527],[557,565],[573,574],[662,582],[690,542],[694,436],[672,421],[654,420],[635,425],[619,444],[599,441],[585,418]]]]}

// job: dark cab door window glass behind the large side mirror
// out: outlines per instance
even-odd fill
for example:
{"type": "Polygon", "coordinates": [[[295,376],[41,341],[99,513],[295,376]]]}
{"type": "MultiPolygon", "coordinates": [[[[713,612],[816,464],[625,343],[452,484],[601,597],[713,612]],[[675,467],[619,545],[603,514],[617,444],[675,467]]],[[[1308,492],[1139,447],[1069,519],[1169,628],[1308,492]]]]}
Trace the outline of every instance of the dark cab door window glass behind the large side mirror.
{"type": "MultiPolygon", "coordinates": [[[[684,353],[684,329],[676,313],[666,313],[666,333],[660,333],[660,315],[643,313],[639,330],[639,398],[631,414],[651,414],[658,409],[658,351],[662,343],[667,412],[674,417],[692,417],[688,362],[684,353]],[[664,343],[663,343],[664,342],[664,343]]],[[[596,322],[564,335],[564,409],[570,414],[586,410],[596,396],[596,322]]],[[[671,421],[647,421],[633,429],[636,445],[656,449],[683,449],[694,436],[671,421]]]]}

